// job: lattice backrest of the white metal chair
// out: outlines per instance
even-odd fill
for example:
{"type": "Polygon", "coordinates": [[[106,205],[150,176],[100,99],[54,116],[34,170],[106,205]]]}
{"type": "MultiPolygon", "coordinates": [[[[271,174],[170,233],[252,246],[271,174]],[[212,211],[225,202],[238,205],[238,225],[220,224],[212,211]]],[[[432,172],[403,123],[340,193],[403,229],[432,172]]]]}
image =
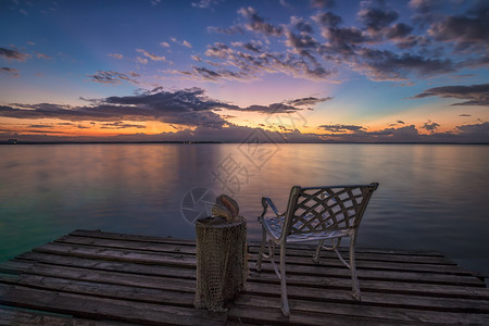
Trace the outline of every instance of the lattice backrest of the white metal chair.
{"type": "Polygon", "coordinates": [[[356,229],[378,184],[292,187],[285,235],[356,229]]]}

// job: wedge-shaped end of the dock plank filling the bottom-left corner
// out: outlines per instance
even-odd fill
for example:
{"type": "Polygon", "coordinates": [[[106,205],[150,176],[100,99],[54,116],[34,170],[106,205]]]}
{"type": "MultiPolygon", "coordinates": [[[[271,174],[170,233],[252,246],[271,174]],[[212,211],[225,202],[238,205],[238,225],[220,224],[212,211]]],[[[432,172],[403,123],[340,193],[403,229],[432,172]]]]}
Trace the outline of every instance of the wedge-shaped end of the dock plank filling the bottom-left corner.
{"type": "Polygon", "coordinates": [[[129,325],[115,322],[89,321],[74,318],[67,315],[46,313],[40,311],[27,311],[24,309],[0,305],[0,325],[46,325],[46,326],[115,326],[129,325]]]}

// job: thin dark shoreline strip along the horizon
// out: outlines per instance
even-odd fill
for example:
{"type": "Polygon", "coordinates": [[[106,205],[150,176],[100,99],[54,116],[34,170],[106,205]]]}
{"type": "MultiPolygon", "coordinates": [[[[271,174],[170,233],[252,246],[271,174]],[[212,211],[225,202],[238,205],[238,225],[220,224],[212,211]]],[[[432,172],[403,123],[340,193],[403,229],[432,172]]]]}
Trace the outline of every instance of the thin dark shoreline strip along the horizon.
{"type": "MultiPolygon", "coordinates": [[[[242,142],[226,142],[226,141],[22,141],[16,143],[8,141],[0,141],[0,145],[151,145],[151,143],[242,143],[242,142]]],[[[327,145],[341,145],[341,143],[358,143],[358,145],[489,145],[489,142],[415,142],[415,141],[324,141],[324,142],[261,142],[261,143],[327,143],[327,145]]]]}

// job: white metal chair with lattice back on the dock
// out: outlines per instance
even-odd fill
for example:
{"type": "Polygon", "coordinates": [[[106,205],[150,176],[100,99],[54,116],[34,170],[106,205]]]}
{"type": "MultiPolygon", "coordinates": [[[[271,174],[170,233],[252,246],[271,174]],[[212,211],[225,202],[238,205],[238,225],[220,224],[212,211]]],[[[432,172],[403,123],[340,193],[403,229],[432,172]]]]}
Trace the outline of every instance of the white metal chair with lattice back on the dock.
{"type": "Polygon", "coordinates": [[[321,249],[333,250],[341,262],[350,268],[352,279],[352,296],[361,300],[359,280],[355,269],[356,233],[363,213],[372,193],[378,184],[328,186],[301,188],[290,190],[287,211],[280,214],[269,198],[262,198],[263,213],[259,216],[262,224],[262,244],[258,258],[256,269],[262,268],[262,259],[269,259],[275,273],[280,279],[281,311],[289,316],[286,283],[286,243],[318,241],[313,260],[317,263],[321,249]],[[275,216],[265,216],[268,206],[275,216]],[[343,237],[350,237],[350,255],[347,262],[338,251],[343,237]],[[268,253],[265,253],[265,242],[268,238],[268,253]],[[331,240],[331,247],[323,246],[325,240],[331,240]],[[275,247],[280,247],[280,265],[277,268],[273,259],[275,247]]]}

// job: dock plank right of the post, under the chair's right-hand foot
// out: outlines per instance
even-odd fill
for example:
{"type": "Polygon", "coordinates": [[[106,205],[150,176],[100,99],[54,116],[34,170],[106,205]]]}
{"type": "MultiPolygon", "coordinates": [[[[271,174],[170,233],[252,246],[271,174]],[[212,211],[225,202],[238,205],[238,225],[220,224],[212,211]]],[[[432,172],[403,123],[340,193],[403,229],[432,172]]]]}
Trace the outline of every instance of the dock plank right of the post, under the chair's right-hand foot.
{"type": "MultiPolygon", "coordinates": [[[[348,290],[315,289],[297,286],[287,286],[290,299],[331,301],[337,303],[350,303],[359,305],[378,305],[390,308],[432,310],[463,313],[489,313],[488,300],[454,299],[427,296],[406,296],[396,293],[362,292],[362,301],[355,301],[348,290]]],[[[244,292],[253,296],[274,296],[279,300],[279,286],[247,283],[244,292]]]]}

